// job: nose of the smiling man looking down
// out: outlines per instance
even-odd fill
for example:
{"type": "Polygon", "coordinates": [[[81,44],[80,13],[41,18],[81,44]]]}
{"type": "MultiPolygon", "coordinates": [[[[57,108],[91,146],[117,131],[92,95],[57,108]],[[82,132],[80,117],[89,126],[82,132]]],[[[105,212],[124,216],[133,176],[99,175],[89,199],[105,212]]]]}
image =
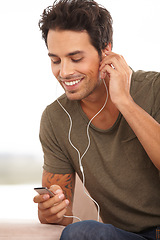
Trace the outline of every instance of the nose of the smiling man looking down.
{"type": "Polygon", "coordinates": [[[60,72],[59,72],[60,77],[67,78],[72,74],[74,74],[72,63],[67,60],[61,61],[60,72]]]}

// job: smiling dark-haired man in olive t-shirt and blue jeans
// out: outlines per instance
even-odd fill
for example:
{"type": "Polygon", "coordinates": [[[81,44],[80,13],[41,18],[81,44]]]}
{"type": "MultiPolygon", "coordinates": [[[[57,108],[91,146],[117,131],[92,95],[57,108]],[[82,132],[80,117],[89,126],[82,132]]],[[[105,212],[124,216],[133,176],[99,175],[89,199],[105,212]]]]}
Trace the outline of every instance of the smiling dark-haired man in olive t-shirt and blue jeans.
{"type": "Polygon", "coordinates": [[[160,225],[160,74],[134,72],[112,52],[110,13],[60,0],[40,21],[54,76],[65,90],[42,116],[42,223],[72,223],[75,172],[103,223],[82,221],[61,239],[156,239],[160,225]]]}

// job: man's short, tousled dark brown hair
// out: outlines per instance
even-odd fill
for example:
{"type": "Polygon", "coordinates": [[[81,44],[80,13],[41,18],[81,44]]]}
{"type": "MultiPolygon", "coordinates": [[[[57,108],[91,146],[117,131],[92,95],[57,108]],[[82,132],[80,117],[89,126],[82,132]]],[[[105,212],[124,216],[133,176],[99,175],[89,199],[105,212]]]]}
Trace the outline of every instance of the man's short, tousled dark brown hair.
{"type": "Polygon", "coordinates": [[[49,29],[86,30],[100,56],[106,45],[113,45],[112,17],[93,0],[56,0],[44,10],[39,27],[46,45],[49,29]]]}

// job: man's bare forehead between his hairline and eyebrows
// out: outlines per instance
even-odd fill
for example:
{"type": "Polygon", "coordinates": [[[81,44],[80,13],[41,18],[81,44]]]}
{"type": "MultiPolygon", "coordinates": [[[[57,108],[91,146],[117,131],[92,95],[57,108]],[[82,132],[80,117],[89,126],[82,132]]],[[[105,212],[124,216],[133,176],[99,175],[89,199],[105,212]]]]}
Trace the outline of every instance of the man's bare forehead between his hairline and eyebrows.
{"type": "Polygon", "coordinates": [[[86,31],[49,30],[47,36],[48,50],[54,54],[67,54],[74,51],[96,51],[86,31]]]}

